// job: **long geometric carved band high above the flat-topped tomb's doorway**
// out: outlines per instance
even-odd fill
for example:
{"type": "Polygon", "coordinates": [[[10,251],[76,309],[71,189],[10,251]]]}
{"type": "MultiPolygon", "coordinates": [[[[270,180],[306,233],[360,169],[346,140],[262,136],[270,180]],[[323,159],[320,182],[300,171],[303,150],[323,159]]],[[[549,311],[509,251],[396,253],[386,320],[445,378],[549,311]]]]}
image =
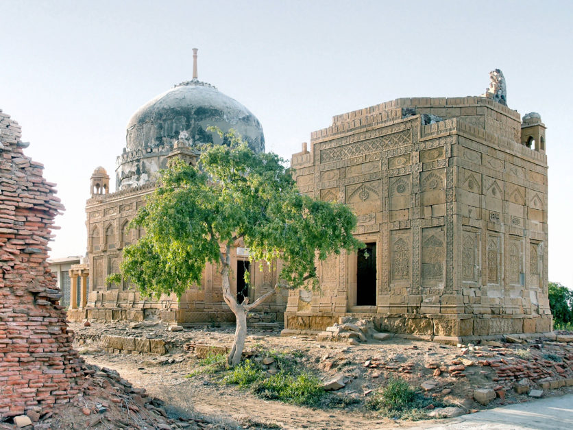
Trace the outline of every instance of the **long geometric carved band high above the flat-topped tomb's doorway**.
{"type": "Polygon", "coordinates": [[[359,141],[341,145],[332,148],[326,148],[320,151],[320,162],[329,163],[330,161],[344,160],[372,152],[380,152],[382,150],[391,149],[393,147],[400,147],[409,145],[411,143],[411,130],[403,130],[401,132],[386,134],[367,141],[359,141]]]}

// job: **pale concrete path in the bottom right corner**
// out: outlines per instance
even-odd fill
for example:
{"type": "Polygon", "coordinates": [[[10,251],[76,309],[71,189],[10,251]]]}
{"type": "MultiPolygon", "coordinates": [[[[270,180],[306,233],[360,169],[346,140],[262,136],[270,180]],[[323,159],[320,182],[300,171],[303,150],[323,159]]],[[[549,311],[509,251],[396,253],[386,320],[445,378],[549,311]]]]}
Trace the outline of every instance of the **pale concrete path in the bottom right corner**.
{"type": "Polygon", "coordinates": [[[409,429],[572,430],[573,394],[489,409],[450,420],[426,421],[409,429]]]}

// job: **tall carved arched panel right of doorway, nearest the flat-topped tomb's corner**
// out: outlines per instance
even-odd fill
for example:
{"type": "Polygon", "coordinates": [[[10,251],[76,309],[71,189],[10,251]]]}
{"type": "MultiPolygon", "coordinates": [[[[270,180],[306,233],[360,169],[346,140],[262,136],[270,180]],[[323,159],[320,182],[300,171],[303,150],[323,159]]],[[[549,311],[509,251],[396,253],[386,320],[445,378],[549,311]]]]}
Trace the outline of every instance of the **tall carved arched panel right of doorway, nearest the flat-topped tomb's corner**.
{"type": "Polygon", "coordinates": [[[443,227],[422,229],[422,283],[443,282],[446,256],[443,227]]]}

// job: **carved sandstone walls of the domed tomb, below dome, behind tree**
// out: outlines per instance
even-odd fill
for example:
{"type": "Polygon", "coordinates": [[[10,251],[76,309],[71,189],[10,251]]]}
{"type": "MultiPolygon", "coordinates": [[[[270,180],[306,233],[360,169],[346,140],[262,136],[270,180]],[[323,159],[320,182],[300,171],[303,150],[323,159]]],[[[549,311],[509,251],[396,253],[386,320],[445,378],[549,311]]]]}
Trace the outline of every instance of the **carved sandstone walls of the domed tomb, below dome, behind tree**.
{"type": "MultiPolygon", "coordinates": [[[[191,287],[178,300],[174,294],[155,298],[142,298],[132,283],[106,285],[109,274],[119,272],[121,253],[125,246],[141,238],[145,231],[129,230],[127,225],[145,204],[147,195],[154,191],[154,184],[125,189],[115,193],[94,195],[86,203],[88,231],[88,261],[92,285],[84,309],[69,311],[70,320],[134,320],[147,316],[160,318],[164,322],[193,324],[200,322],[234,322],[234,315],[223,301],[219,267],[207,265],[202,285],[191,287]]],[[[232,268],[236,262],[247,260],[244,248],[233,248],[232,268]],[[242,254],[238,254],[239,250],[242,254]]],[[[259,264],[252,265],[250,274],[252,287],[249,298],[252,301],[272,289],[276,284],[276,267],[259,270],[259,264]]],[[[236,291],[236,276],[231,278],[231,288],[236,291]]],[[[269,320],[282,320],[287,293],[274,296],[273,300],[257,307],[269,320]]]]}

